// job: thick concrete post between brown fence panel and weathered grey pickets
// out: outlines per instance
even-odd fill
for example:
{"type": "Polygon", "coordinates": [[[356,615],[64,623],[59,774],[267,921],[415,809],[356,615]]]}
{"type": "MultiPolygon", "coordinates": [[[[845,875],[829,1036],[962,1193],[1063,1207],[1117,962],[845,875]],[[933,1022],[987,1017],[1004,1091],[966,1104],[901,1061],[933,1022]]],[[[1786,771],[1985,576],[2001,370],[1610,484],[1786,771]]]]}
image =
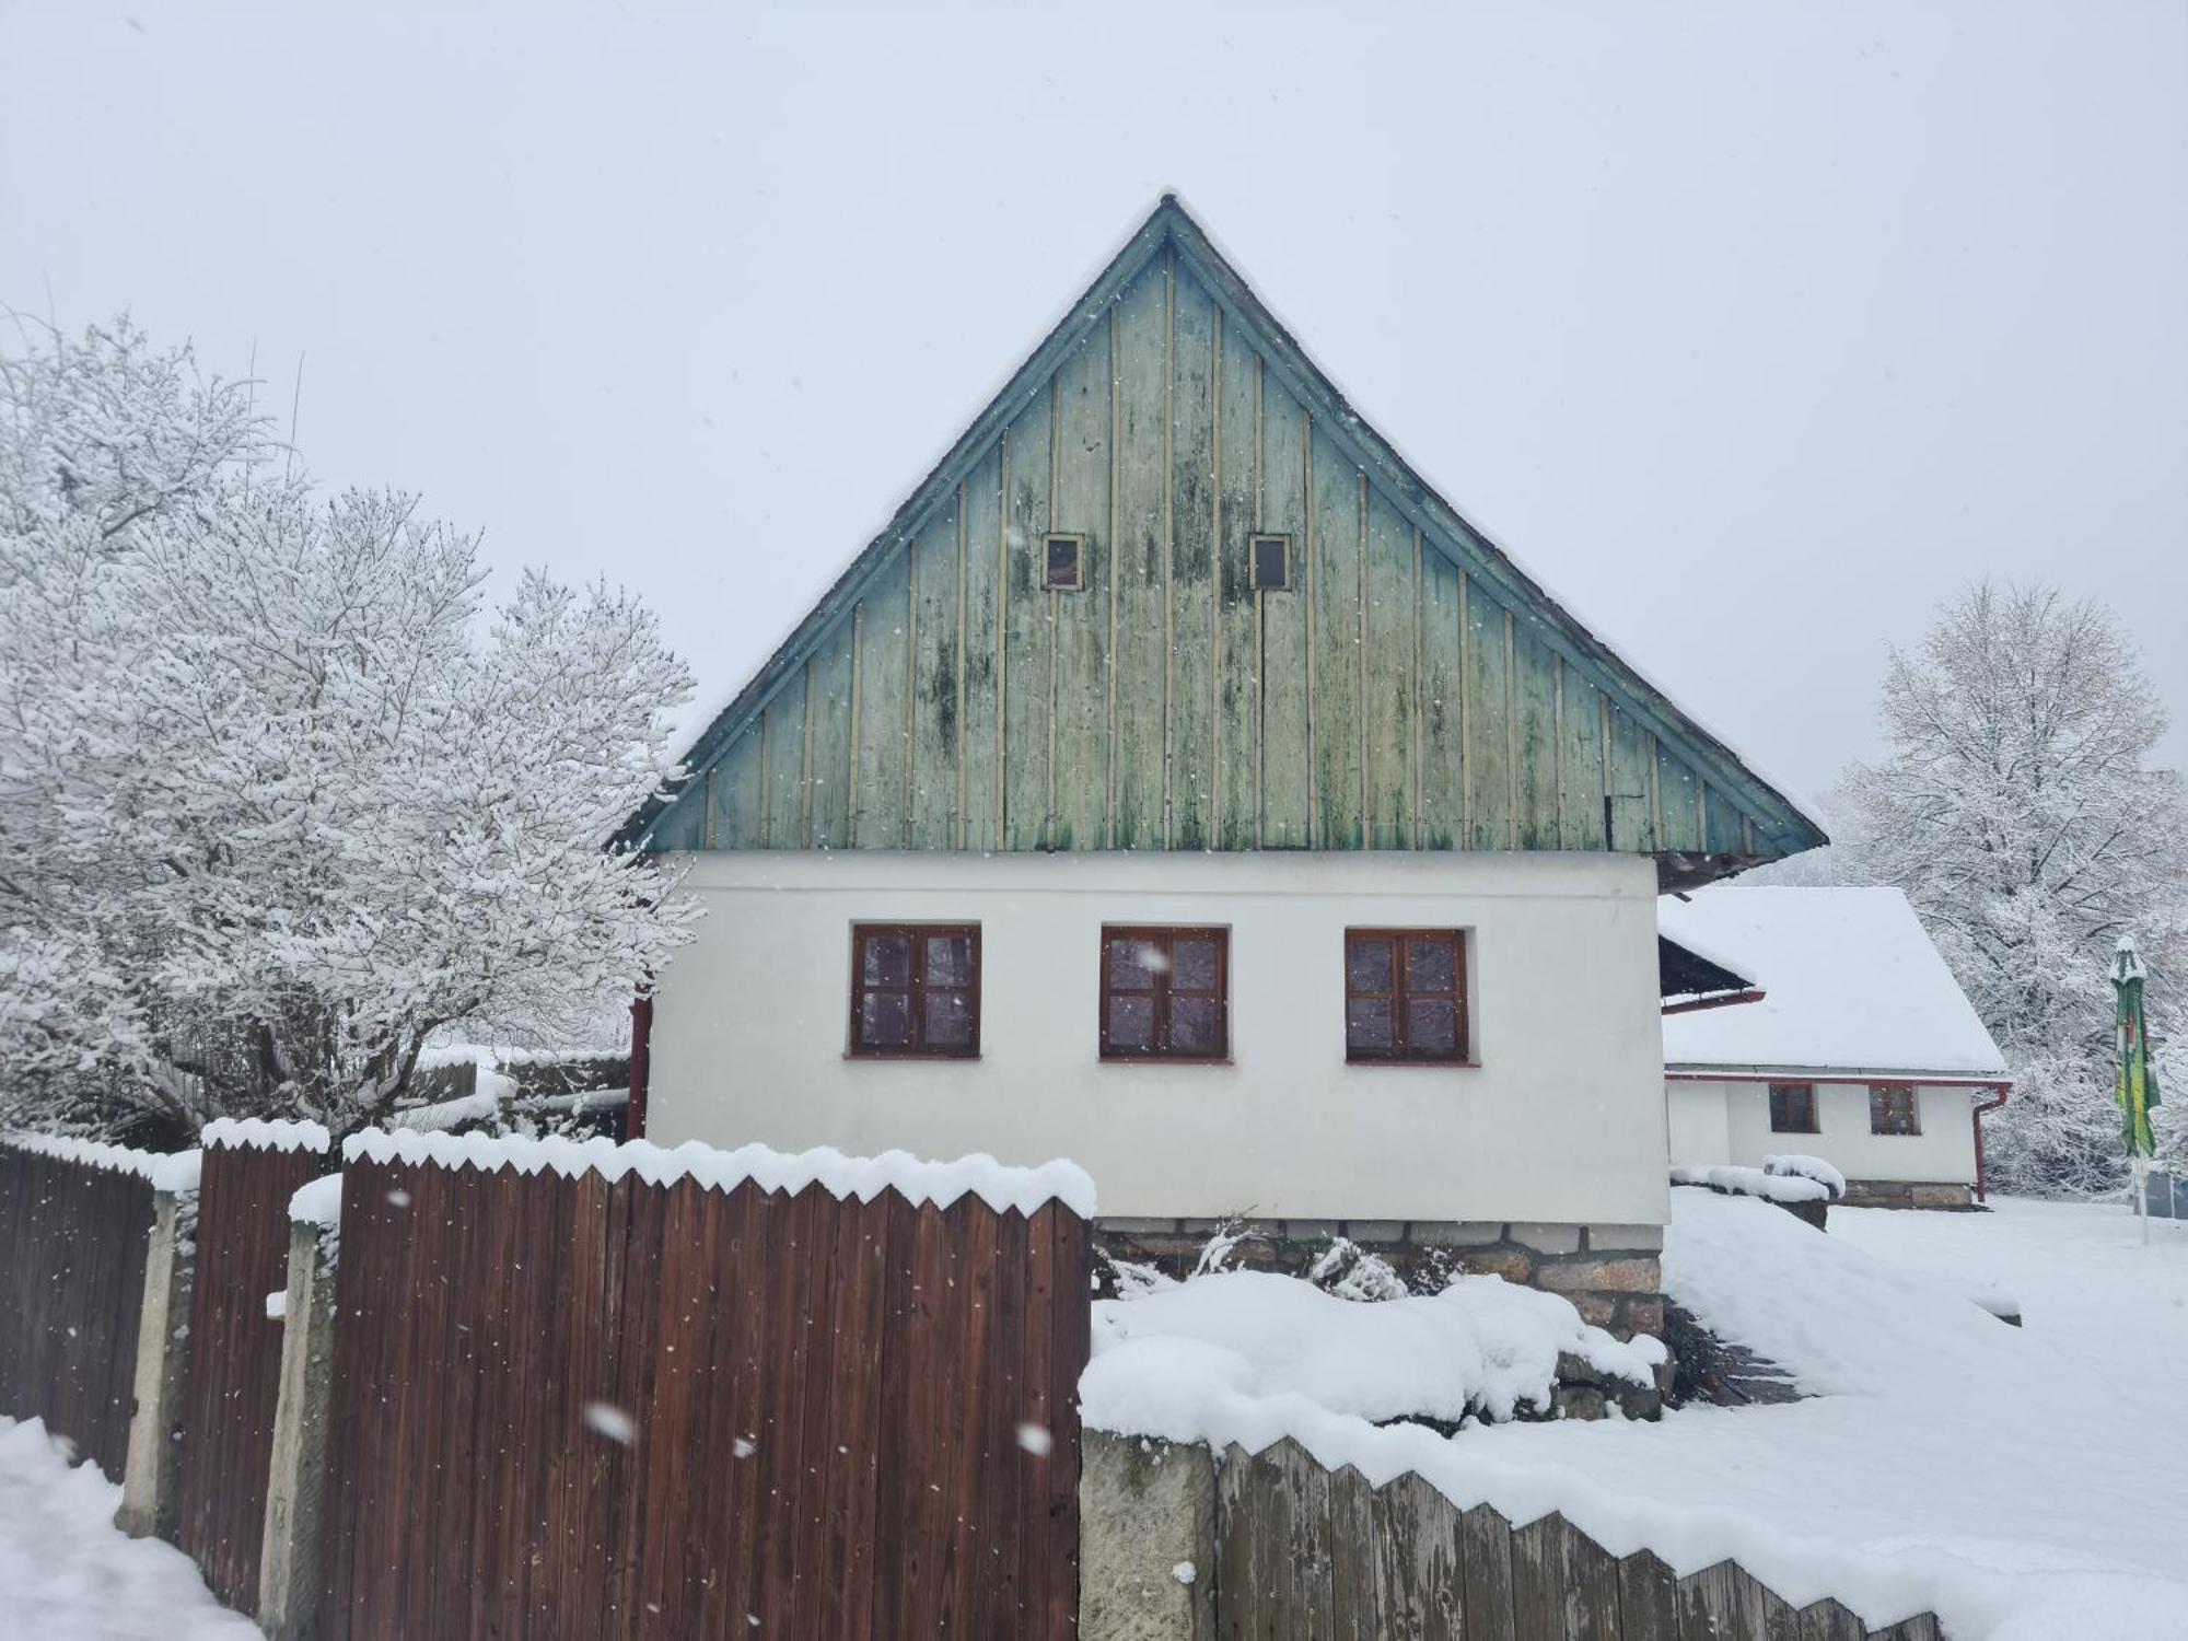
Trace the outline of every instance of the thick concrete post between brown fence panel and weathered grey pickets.
{"type": "Polygon", "coordinates": [[[1085,1431],[1079,1639],[1214,1641],[1217,1466],[1206,1446],[1085,1431]]]}

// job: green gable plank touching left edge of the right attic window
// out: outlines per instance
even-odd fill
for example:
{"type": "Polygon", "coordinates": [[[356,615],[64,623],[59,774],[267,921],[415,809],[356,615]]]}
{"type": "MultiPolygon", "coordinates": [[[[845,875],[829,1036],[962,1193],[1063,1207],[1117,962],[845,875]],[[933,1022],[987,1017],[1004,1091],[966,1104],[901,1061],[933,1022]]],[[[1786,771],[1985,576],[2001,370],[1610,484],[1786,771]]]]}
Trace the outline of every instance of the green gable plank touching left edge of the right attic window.
{"type": "MultiPolygon", "coordinates": [[[[1197,289],[1197,287],[1195,287],[1197,289]]],[[[1260,845],[1262,615],[1247,536],[1260,527],[1260,357],[1214,315],[1217,849],[1260,845]]],[[[1304,705],[1302,705],[1304,722],[1304,705]]],[[[1302,731],[1302,757],[1306,735],[1302,731]]]]}

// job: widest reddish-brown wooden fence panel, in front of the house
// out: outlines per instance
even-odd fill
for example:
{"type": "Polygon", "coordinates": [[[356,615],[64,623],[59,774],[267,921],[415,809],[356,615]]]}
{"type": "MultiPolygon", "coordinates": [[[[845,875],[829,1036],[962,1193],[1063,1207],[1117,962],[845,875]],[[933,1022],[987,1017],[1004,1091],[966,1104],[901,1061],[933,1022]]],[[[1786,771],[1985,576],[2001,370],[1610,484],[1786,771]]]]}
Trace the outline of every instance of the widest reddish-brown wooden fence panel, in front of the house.
{"type": "Polygon", "coordinates": [[[1057,1203],[350,1162],[319,1634],[1063,1641],[1087,1276],[1057,1203]]]}

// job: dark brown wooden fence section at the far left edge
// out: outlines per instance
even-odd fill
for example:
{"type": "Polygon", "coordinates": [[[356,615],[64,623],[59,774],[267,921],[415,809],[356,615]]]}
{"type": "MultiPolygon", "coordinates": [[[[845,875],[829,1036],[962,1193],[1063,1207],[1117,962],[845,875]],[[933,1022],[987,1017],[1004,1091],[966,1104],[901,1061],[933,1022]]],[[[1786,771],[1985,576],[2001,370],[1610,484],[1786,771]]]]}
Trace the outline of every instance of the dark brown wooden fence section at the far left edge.
{"type": "Polygon", "coordinates": [[[0,1147],[0,1413],[42,1418],[120,1481],[151,1182],[0,1147]]]}

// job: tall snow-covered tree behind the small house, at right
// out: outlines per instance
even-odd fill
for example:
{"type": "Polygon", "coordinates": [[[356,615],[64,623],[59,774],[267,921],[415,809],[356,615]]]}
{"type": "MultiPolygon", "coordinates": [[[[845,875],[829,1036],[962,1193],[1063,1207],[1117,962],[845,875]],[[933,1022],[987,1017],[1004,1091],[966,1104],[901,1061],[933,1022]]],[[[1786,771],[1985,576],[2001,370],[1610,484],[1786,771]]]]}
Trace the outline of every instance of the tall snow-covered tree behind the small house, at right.
{"type": "Polygon", "coordinates": [[[2120,621],[2050,586],[1969,586],[1884,680],[1890,757],[1849,770],[1844,866],[1906,891],[2015,1076],[1989,1118],[2009,1190],[2125,1173],[2111,1101],[2120,934],[2151,1031],[2188,1004],[2188,807],[2151,768],[2166,713],[2120,621]]]}

